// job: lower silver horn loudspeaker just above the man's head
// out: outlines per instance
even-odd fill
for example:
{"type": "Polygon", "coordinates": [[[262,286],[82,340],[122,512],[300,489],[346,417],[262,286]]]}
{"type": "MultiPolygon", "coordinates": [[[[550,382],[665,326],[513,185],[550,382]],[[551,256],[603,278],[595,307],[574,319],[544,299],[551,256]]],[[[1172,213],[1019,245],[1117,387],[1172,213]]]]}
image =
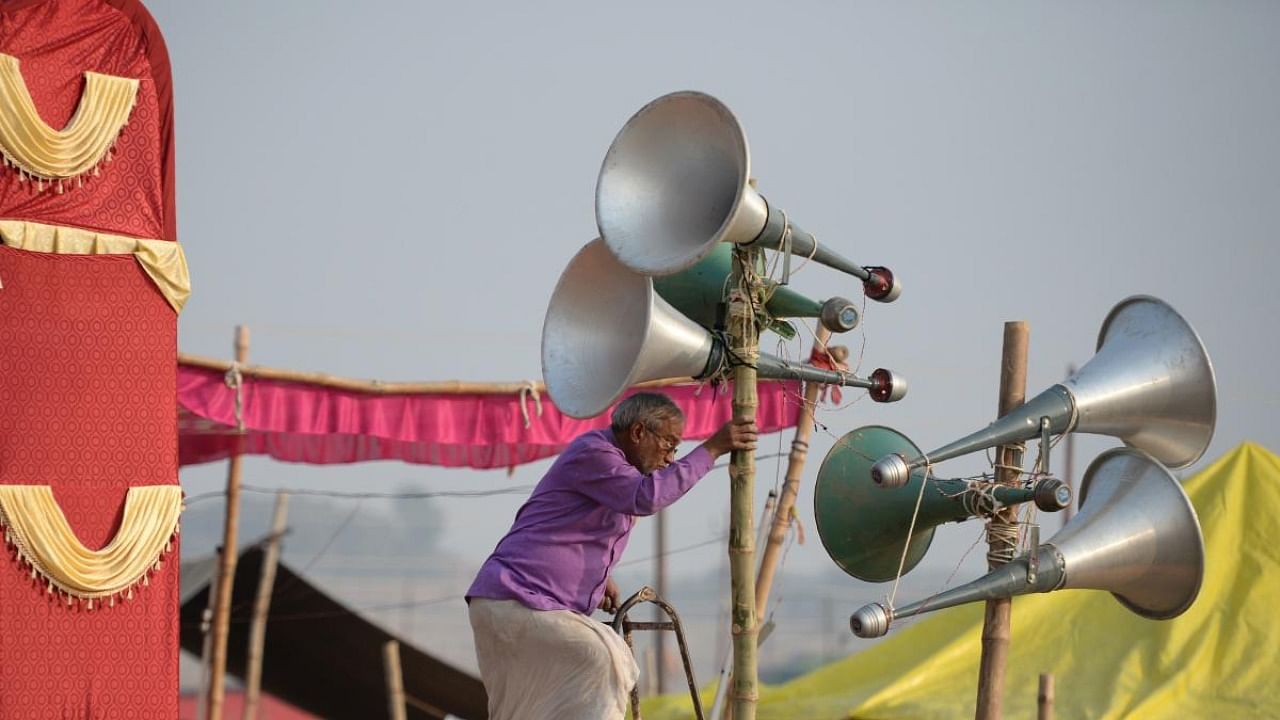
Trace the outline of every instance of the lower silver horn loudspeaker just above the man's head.
{"type": "MultiPolygon", "coordinates": [[[[713,377],[728,355],[717,336],[681,315],[654,292],[653,279],[627,269],[599,240],[570,261],[543,323],[543,379],[571,418],[600,414],[637,383],[713,377]]],[[[906,382],[883,368],[858,378],[762,352],[756,369],[762,378],[867,388],[877,402],[906,395],[906,382]]]]}

